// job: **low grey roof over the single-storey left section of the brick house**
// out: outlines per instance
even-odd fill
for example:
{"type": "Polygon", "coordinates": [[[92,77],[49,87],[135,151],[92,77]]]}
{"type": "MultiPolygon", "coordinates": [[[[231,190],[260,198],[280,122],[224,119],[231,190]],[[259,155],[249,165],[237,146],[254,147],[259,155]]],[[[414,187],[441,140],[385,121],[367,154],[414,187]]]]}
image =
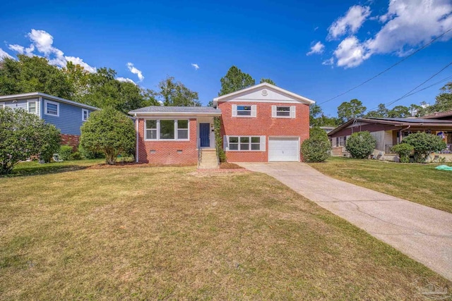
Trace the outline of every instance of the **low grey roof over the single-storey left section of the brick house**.
{"type": "Polygon", "coordinates": [[[208,115],[220,116],[221,110],[212,106],[146,106],[130,111],[131,115],[208,115]]]}

